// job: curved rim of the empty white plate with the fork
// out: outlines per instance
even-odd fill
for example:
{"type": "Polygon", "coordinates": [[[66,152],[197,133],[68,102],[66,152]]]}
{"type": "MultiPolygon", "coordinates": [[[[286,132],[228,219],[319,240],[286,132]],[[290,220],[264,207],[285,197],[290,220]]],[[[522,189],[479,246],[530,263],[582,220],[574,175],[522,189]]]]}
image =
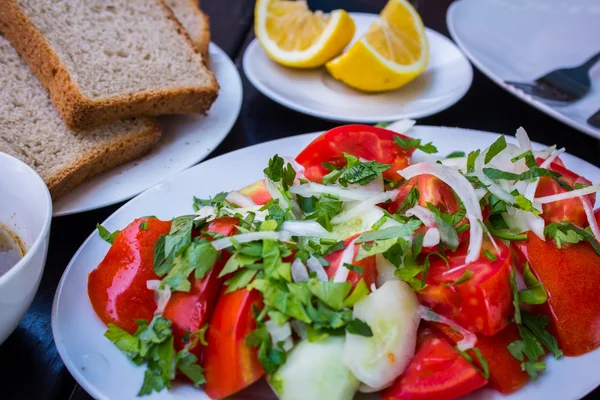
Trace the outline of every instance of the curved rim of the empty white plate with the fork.
{"type": "Polygon", "coordinates": [[[457,12],[456,9],[458,7],[461,7],[461,3],[468,2],[469,0],[455,1],[452,4],[450,4],[450,6],[448,7],[448,11],[446,12],[446,25],[448,26],[448,32],[450,32],[452,40],[454,40],[454,42],[458,45],[460,50],[466,55],[467,59],[488,79],[490,79],[496,85],[500,86],[502,89],[506,90],[519,100],[527,103],[528,105],[534,108],[537,108],[544,114],[564,123],[565,125],[570,126],[573,129],[585,133],[586,135],[589,135],[595,139],[600,139],[600,129],[594,129],[591,125],[588,126],[588,124],[581,124],[577,121],[574,121],[566,115],[556,111],[554,108],[545,104],[544,102],[537,100],[535,97],[526,95],[525,93],[523,93],[523,91],[507,84],[502,79],[493,74],[491,70],[489,70],[477,57],[473,55],[473,53],[465,46],[463,41],[460,39],[460,36],[457,34],[455,24],[455,15],[457,12]]]}

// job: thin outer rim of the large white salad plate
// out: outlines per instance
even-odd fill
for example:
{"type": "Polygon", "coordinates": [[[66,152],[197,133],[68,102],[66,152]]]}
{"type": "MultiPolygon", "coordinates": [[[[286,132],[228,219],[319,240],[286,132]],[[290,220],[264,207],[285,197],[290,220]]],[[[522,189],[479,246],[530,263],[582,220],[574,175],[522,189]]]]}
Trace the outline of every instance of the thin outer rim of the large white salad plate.
{"type": "MultiPolygon", "coordinates": [[[[423,129],[434,129],[434,130],[447,130],[447,129],[451,129],[451,130],[459,130],[459,131],[469,131],[472,133],[476,133],[476,134],[480,134],[480,135],[484,135],[484,136],[489,136],[490,139],[493,139],[494,137],[498,137],[500,135],[503,135],[502,133],[497,133],[497,132],[490,132],[490,131],[483,131],[483,130],[478,130],[478,129],[470,129],[470,128],[460,128],[460,127],[450,127],[450,126],[435,126],[435,125],[418,125],[419,128],[423,128],[423,129]]],[[[299,135],[294,135],[294,136],[287,136],[287,137],[283,137],[283,138],[278,138],[278,139],[274,139],[274,140],[270,140],[270,141],[266,141],[266,142],[262,142],[262,143],[257,143],[254,144],[252,146],[247,146],[241,149],[237,149],[237,150],[233,150],[230,152],[227,152],[225,154],[221,154],[217,157],[211,158],[210,160],[206,160],[204,162],[212,162],[214,160],[218,160],[219,158],[222,158],[224,156],[231,156],[231,155],[236,155],[239,153],[242,153],[244,151],[246,151],[249,148],[256,148],[256,147],[260,147],[266,144],[272,144],[272,143],[276,143],[279,141],[286,141],[286,140],[302,140],[303,138],[316,138],[318,135],[322,134],[324,131],[316,131],[316,132],[310,132],[310,133],[304,133],[304,134],[299,134],[299,135]]],[[[513,137],[513,135],[507,135],[504,134],[506,136],[509,137],[513,137]]],[[[546,145],[541,144],[539,142],[532,142],[532,144],[534,144],[534,146],[542,146],[542,147],[546,147],[546,145]]],[[[597,167],[595,165],[593,165],[592,163],[579,158],[573,154],[570,153],[565,153],[566,155],[568,155],[570,158],[574,158],[576,159],[578,162],[582,163],[582,165],[586,166],[586,167],[592,167],[596,170],[598,170],[599,174],[600,174],[600,167],[597,167]]],[[[107,225],[107,223],[116,217],[116,215],[120,212],[122,212],[122,210],[125,207],[130,207],[131,204],[140,201],[140,198],[142,196],[149,196],[150,192],[153,190],[156,190],[157,188],[159,188],[161,185],[165,184],[165,183],[169,183],[171,180],[174,180],[178,177],[180,177],[181,175],[185,175],[185,174],[190,174],[192,173],[192,171],[194,171],[194,169],[199,168],[203,163],[199,163],[191,168],[188,168],[186,170],[183,170],[177,174],[172,175],[171,177],[163,180],[161,183],[154,185],[146,190],[144,190],[142,193],[136,195],[135,197],[133,197],[132,199],[128,200],[125,204],[123,204],[121,207],[119,207],[117,210],[115,210],[113,213],[111,213],[104,221],[102,221],[103,225],[107,225]]],[[[59,328],[58,328],[58,303],[59,303],[59,298],[61,297],[61,293],[63,291],[63,287],[65,284],[65,281],[67,279],[67,276],[71,270],[71,268],[73,268],[73,264],[75,263],[75,261],[79,258],[80,253],[84,250],[84,248],[86,248],[87,246],[89,246],[88,242],[90,242],[95,236],[95,231],[90,232],[90,234],[88,235],[88,237],[84,240],[84,242],[79,246],[79,248],[77,249],[77,251],[74,253],[74,255],[71,257],[69,263],[67,264],[67,267],[64,269],[63,274],[61,276],[61,279],[58,283],[58,286],[56,288],[56,292],[52,301],[52,310],[51,310],[51,329],[52,329],[52,337],[54,339],[54,344],[56,346],[56,349],[58,351],[58,354],[63,362],[63,364],[65,365],[65,367],[67,368],[67,370],[69,371],[69,373],[73,376],[73,378],[75,379],[75,381],[81,385],[81,387],[87,392],[89,393],[92,397],[96,398],[96,399],[107,399],[107,400],[111,400],[108,397],[106,397],[101,391],[100,389],[97,388],[96,385],[92,384],[90,380],[87,379],[87,377],[85,375],[83,375],[78,368],[76,368],[76,366],[73,363],[73,359],[69,356],[69,353],[67,351],[66,346],[64,345],[64,342],[61,340],[62,337],[62,333],[60,332],[59,328]],[[63,357],[67,357],[66,359],[63,357]]],[[[600,348],[598,348],[597,350],[600,351],[600,348]]],[[[589,354],[589,353],[588,353],[589,354]]],[[[570,358],[570,357],[569,357],[570,358]]],[[[132,368],[134,366],[132,365],[132,368]]],[[[598,383],[596,383],[595,385],[593,385],[592,387],[588,387],[583,389],[580,392],[580,396],[585,396],[589,393],[591,393],[593,390],[595,390],[597,387],[600,387],[598,384],[600,384],[600,379],[598,380],[598,383]]]]}

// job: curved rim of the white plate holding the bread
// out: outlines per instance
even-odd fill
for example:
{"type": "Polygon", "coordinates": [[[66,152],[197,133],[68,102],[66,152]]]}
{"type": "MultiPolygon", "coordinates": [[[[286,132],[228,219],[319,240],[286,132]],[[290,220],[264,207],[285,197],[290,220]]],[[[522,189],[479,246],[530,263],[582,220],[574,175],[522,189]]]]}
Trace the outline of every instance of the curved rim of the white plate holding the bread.
{"type": "MultiPolygon", "coordinates": [[[[230,117],[229,117],[230,121],[228,121],[226,124],[223,125],[223,129],[222,129],[223,133],[220,135],[221,137],[218,139],[218,141],[214,143],[214,147],[212,147],[210,149],[210,151],[202,152],[201,154],[203,154],[203,155],[200,158],[196,158],[193,163],[191,163],[191,164],[186,163],[187,166],[180,168],[177,172],[171,174],[170,176],[165,177],[163,180],[161,180],[159,182],[153,183],[152,185],[146,187],[145,189],[143,189],[140,192],[133,193],[133,194],[128,193],[128,194],[121,195],[118,197],[115,196],[115,198],[113,198],[111,200],[103,201],[98,204],[88,205],[88,206],[84,206],[84,207],[78,207],[76,209],[74,207],[71,207],[71,209],[69,209],[69,210],[60,210],[55,207],[53,209],[53,213],[52,213],[53,218],[54,217],[63,217],[63,216],[67,216],[67,215],[75,215],[75,214],[80,214],[83,212],[98,210],[100,208],[112,206],[114,204],[132,199],[132,198],[140,195],[141,193],[145,192],[146,190],[151,189],[155,185],[158,185],[161,182],[164,182],[165,180],[170,179],[171,177],[197,165],[199,162],[201,162],[204,159],[206,159],[207,157],[209,157],[212,154],[212,152],[214,152],[217,149],[217,147],[219,147],[219,145],[227,138],[227,136],[229,136],[229,133],[231,133],[231,129],[235,125],[235,123],[240,115],[240,112],[242,110],[242,103],[243,103],[243,99],[244,99],[244,88],[242,85],[242,78],[240,76],[240,72],[237,69],[237,67],[236,67],[235,63],[233,62],[233,60],[231,59],[231,57],[229,57],[229,55],[223,49],[221,49],[221,47],[219,47],[217,44],[215,44],[213,42],[210,42],[210,49],[213,50],[216,54],[218,54],[218,57],[222,57],[225,60],[225,65],[226,65],[225,68],[229,69],[231,72],[234,72],[233,75],[235,76],[235,81],[228,82],[227,85],[228,86],[233,86],[233,85],[236,86],[236,96],[237,96],[235,99],[233,97],[231,98],[232,100],[235,101],[235,105],[234,105],[234,107],[231,107],[229,110],[234,111],[234,112],[227,113],[228,115],[230,115],[230,117]],[[238,93],[239,93],[239,95],[238,95],[238,93]],[[235,118],[233,118],[233,116],[235,116],[235,118]]],[[[208,111],[206,118],[210,118],[210,110],[208,111]]],[[[152,150],[150,151],[150,153],[148,153],[148,155],[150,155],[150,157],[152,157],[152,150]]],[[[138,160],[139,159],[131,160],[123,165],[127,165],[132,162],[137,162],[138,160]]],[[[92,179],[95,179],[99,176],[101,176],[101,175],[95,176],[92,179]]]]}

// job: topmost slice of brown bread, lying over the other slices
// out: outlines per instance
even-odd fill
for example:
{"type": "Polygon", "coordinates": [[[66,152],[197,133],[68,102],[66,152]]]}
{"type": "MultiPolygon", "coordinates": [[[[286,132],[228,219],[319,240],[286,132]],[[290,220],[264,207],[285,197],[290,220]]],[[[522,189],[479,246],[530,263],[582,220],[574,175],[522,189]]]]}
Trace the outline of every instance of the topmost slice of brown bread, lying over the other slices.
{"type": "Polygon", "coordinates": [[[162,0],[2,0],[0,30],[76,130],[205,113],[218,84],[162,0]]]}

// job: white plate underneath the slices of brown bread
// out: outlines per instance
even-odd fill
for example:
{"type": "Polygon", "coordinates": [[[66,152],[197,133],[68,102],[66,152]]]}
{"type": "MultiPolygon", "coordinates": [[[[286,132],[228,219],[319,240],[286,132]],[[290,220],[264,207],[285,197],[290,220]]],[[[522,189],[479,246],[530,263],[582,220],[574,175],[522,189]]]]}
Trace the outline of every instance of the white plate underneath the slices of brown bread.
{"type": "Polygon", "coordinates": [[[208,156],[225,139],[242,106],[242,81],[229,56],[210,44],[209,65],[221,88],[206,115],[157,118],[163,136],[146,156],[98,175],[54,203],[54,216],[94,210],[143,192],[208,156]]]}

